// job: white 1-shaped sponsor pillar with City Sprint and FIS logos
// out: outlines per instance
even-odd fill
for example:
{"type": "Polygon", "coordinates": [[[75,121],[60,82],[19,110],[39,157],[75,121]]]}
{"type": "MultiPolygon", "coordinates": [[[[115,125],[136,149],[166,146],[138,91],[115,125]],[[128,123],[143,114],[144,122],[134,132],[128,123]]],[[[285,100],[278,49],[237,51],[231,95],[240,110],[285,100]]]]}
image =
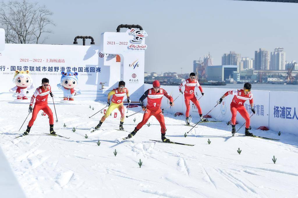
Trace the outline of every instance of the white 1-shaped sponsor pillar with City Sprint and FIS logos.
{"type": "MultiPolygon", "coordinates": [[[[127,32],[105,32],[101,34],[103,54],[118,54],[120,57],[120,79],[125,81],[132,103],[138,102],[143,94],[145,64],[145,31],[128,29],[127,32]],[[137,33],[136,33],[137,32],[137,33]],[[139,36],[136,36],[139,35],[139,36]]],[[[104,62],[104,66],[110,63],[104,62]]]]}

